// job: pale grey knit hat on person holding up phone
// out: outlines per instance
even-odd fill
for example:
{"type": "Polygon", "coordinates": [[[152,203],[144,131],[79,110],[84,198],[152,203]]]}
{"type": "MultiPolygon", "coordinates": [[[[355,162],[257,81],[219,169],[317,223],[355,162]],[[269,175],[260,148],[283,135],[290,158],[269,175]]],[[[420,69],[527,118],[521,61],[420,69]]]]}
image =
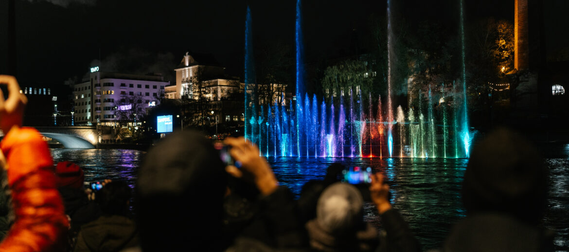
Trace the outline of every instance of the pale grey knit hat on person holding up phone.
{"type": "Polygon", "coordinates": [[[364,199],[351,184],[334,183],[318,199],[316,221],[331,234],[352,232],[362,223],[364,199]]]}

